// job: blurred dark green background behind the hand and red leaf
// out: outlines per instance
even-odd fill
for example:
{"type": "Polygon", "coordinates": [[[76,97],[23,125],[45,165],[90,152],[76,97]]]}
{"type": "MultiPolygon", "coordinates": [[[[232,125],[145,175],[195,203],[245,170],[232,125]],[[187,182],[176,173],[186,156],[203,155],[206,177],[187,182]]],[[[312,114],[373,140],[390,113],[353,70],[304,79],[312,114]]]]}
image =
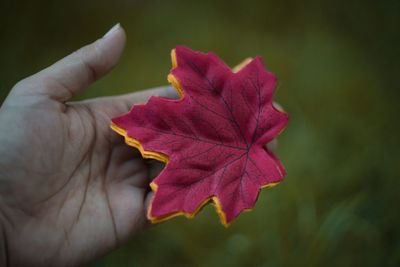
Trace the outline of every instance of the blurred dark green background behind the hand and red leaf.
{"type": "Polygon", "coordinates": [[[78,99],[164,85],[177,44],[233,66],[263,57],[291,115],[285,181],[228,228],[212,206],[149,228],[90,266],[398,266],[400,1],[1,1],[0,102],[101,37],[117,68],[78,99]]]}

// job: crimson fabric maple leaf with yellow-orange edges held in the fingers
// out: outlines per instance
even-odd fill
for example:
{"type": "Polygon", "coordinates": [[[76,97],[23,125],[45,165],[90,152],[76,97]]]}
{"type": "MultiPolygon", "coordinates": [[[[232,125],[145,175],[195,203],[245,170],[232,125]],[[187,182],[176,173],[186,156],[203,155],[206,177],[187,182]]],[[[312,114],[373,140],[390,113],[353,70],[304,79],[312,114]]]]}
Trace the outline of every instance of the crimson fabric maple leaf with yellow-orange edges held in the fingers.
{"type": "Polygon", "coordinates": [[[275,76],[262,59],[236,73],[215,54],[177,46],[168,80],[181,98],[153,96],[111,127],[144,158],[167,163],[150,184],[148,218],[193,217],[213,201],[227,226],[253,208],[260,188],[279,183],[285,170],[265,144],[289,116],[272,105],[275,76]]]}

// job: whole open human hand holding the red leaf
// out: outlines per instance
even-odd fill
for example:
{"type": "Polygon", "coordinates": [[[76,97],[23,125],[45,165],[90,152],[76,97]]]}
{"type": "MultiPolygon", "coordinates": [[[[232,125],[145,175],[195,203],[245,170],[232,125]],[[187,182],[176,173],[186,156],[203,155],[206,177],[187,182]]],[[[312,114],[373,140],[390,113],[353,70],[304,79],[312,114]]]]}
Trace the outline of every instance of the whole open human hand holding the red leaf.
{"type": "Polygon", "coordinates": [[[68,102],[119,61],[125,32],[103,38],[19,82],[0,109],[0,265],[81,265],[146,224],[157,168],[110,119],[164,87],[68,102]],[[147,199],[147,200],[146,200],[147,199]]]}

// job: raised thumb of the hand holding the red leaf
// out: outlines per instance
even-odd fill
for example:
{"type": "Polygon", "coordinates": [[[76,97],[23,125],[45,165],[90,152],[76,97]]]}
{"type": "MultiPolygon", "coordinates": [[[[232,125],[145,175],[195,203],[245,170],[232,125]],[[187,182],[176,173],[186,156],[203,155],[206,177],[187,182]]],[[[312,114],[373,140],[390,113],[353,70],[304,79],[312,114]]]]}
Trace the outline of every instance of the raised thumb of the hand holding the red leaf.
{"type": "Polygon", "coordinates": [[[118,63],[125,42],[125,31],[118,23],[94,43],[20,81],[10,95],[40,95],[68,101],[118,63]]]}

